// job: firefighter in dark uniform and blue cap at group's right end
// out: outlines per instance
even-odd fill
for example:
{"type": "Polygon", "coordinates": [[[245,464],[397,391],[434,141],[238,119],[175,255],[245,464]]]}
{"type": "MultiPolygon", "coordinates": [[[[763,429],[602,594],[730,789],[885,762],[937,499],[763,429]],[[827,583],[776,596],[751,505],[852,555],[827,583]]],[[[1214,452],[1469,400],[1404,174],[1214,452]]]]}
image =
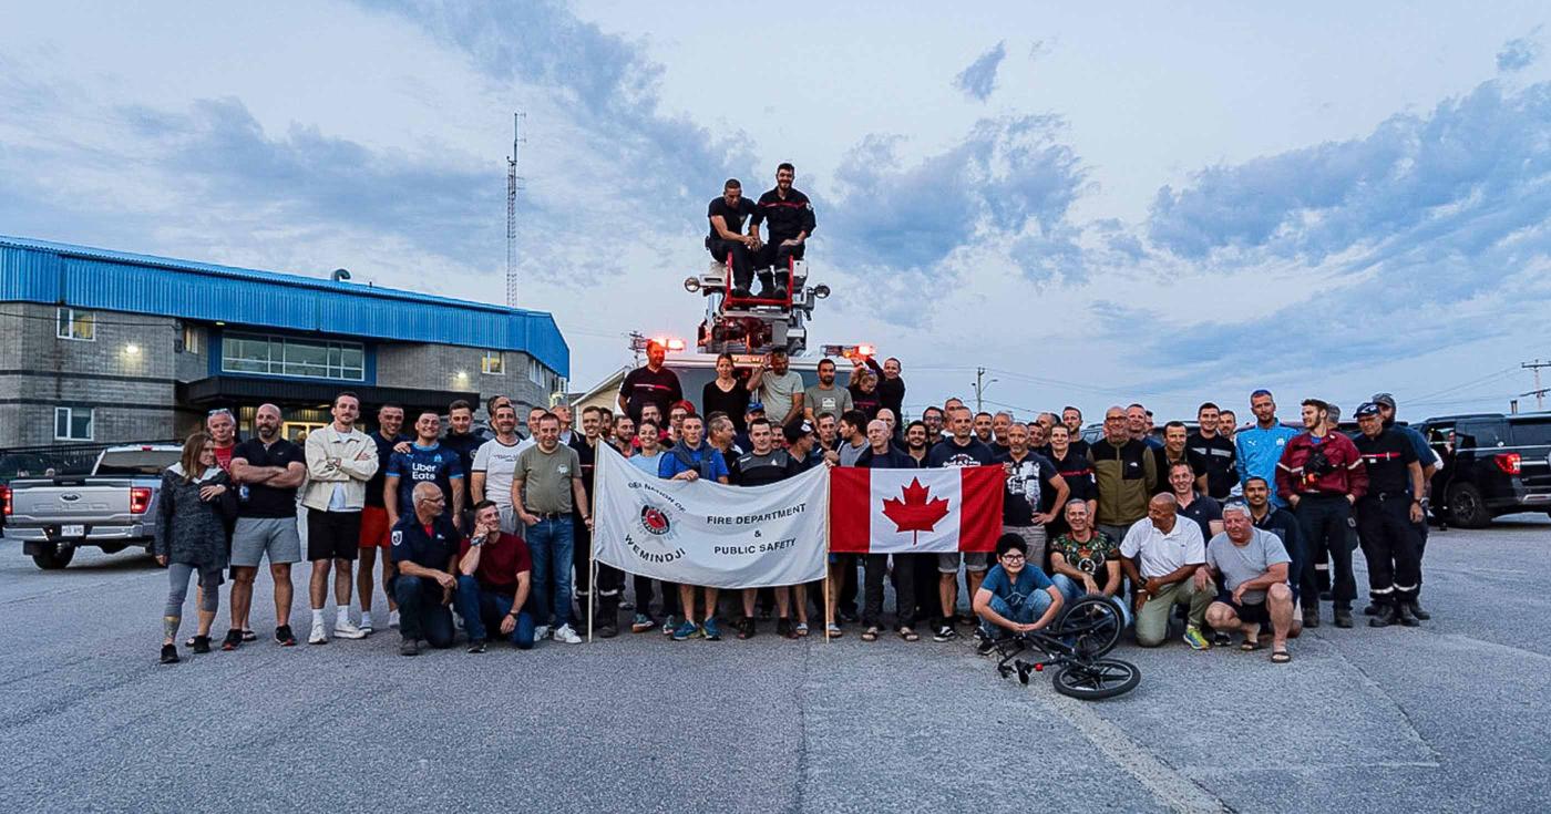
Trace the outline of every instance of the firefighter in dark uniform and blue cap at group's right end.
{"type": "Polygon", "coordinates": [[[1368,592],[1374,628],[1415,628],[1413,606],[1422,566],[1416,523],[1422,519],[1422,464],[1410,439],[1383,425],[1379,405],[1357,408],[1362,434],[1352,443],[1368,468],[1368,493],[1357,501],[1357,533],[1368,558],[1368,592]]]}

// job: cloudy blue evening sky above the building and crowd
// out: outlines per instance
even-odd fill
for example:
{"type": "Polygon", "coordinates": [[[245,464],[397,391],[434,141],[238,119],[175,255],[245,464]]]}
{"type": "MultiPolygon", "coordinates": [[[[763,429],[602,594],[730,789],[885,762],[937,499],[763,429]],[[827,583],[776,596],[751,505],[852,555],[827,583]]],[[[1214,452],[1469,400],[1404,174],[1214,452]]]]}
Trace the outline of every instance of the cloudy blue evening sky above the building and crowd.
{"type": "MultiPolygon", "coordinates": [[[[907,406],[1506,409],[1551,358],[1545,3],[14,5],[0,234],[504,298],[585,389],[692,336],[706,202],[797,164],[811,335],[907,406]],[[1253,8],[1249,8],[1253,6],[1253,8]]],[[[816,343],[817,344],[817,343],[816,343]]]]}

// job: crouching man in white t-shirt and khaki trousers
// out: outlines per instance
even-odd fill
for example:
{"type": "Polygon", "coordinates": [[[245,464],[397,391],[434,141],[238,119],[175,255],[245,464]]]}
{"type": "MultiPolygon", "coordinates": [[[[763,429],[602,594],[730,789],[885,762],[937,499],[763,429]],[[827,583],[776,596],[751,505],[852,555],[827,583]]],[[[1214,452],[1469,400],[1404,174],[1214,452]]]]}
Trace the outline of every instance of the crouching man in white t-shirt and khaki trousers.
{"type": "Polygon", "coordinates": [[[1188,605],[1185,643],[1194,650],[1210,648],[1200,625],[1218,589],[1207,569],[1200,526],[1179,521],[1179,502],[1173,495],[1157,495],[1148,502],[1148,516],[1126,530],[1120,555],[1120,566],[1137,586],[1137,643],[1162,645],[1174,605],[1188,605]]]}

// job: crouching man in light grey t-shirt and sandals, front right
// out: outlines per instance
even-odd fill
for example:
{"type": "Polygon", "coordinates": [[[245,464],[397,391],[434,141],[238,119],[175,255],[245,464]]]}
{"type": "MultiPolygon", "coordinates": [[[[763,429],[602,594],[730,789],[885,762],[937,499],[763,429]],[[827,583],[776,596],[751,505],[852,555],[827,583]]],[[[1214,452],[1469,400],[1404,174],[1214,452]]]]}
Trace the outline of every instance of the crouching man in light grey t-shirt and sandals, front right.
{"type": "Polygon", "coordinates": [[[1218,577],[1222,592],[1207,608],[1207,623],[1214,631],[1238,629],[1241,650],[1261,648],[1261,625],[1272,628],[1270,661],[1286,664],[1287,634],[1292,631],[1292,588],[1287,564],[1292,561],[1281,538],[1255,527],[1255,516],[1242,501],[1222,507],[1224,532],[1207,544],[1207,567],[1218,577]]]}

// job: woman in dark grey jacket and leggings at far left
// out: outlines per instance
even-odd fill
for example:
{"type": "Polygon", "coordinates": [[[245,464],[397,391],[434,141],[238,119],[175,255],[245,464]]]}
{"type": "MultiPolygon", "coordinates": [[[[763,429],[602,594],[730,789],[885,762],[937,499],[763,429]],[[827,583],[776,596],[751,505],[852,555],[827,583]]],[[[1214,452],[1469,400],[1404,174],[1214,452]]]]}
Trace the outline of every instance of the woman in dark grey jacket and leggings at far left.
{"type": "Polygon", "coordinates": [[[157,493],[157,540],[152,552],[168,567],[172,583],[161,614],[161,664],[178,661],[178,625],[189,577],[199,574],[203,589],[194,653],[209,653],[209,626],[220,605],[222,571],[226,569],[225,518],[236,515],[237,495],[226,473],[216,465],[216,445],[205,433],[183,442],[183,457],[161,473],[157,493]]]}

